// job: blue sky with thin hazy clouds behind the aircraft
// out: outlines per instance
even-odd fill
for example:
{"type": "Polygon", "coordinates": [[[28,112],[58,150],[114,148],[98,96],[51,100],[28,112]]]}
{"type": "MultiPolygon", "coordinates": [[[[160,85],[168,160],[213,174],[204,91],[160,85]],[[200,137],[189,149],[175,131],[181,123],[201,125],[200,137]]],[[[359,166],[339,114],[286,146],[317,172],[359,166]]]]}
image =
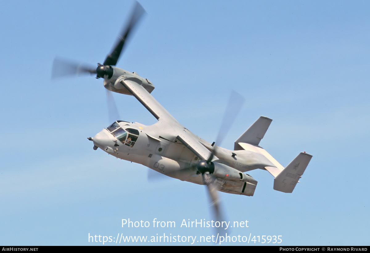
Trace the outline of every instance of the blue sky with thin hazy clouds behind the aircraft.
{"type": "MultiPolygon", "coordinates": [[[[220,193],[229,220],[249,225],[228,235],[280,235],[275,245],[369,245],[370,3],[140,3],[147,15],[117,67],[150,80],[152,95],[181,124],[213,142],[236,90],[246,103],[223,147],[232,149],[263,115],[273,121],[260,145],[283,166],[299,152],[313,155],[292,194],[273,190],[273,177],[262,170],[249,173],[258,180],[253,197],[220,193]]],[[[205,187],[148,182],[146,167],[92,149],[86,138],[110,124],[102,80],[50,80],[55,56],[103,62],[133,6],[2,3],[1,245],[102,245],[89,243],[89,233],[197,239],[214,233],[180,227],[183,219],[211,219],[205,187]],[[155,218],[176,228],[121,224],[152,225],[155,218]]],[[[155,123],[134,97],[115,100],[122,120],[155,123]]]]}

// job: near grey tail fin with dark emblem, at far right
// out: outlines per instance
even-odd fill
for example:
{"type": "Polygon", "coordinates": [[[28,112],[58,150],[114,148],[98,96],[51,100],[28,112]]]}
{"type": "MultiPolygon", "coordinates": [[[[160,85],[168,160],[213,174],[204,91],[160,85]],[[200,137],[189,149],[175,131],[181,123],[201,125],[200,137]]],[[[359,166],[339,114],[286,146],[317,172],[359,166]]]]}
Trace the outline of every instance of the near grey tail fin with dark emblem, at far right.
{"type": "MultiPolygon", "coordinates": [[[[302,177],[312,155],[301,152],[281,171],[274,180],[274,190],[291,193],[302,177]]],[[[275,176],[275,175],[274,175],[275,176]]]]}

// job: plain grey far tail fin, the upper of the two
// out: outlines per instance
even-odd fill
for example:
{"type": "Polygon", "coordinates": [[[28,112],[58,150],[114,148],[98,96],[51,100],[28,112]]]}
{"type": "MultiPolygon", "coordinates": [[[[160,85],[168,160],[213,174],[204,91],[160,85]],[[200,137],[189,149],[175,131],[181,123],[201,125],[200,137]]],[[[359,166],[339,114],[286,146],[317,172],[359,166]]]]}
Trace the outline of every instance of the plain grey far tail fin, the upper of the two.
{"type": "Polygon", "coordinates": [[[265,136],[267,129],[271,124],[272,119],[267,117],[259,117],[240,137],[235,141],[235,150],[239,150],[239,142],[259,145],[259,142],[265,136]]]}

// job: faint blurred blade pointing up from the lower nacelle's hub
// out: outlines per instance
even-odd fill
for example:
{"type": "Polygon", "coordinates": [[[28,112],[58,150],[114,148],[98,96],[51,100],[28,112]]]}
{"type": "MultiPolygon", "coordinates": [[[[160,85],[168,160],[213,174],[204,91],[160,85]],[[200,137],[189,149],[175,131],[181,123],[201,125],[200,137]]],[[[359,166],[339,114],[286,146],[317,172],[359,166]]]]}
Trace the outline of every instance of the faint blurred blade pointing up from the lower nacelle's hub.
{"type": "Polygon", "coordinates": [[[245,98],[242,95],[240,95],[234,90],[231,91],[225,113],[223,114],[221,127],[218,131],[216,142],[213,145],[212,154],[208,158],[207,163],[212,161],[213,156],[215,155],[215,152],[216,152],[216,145],[221,145],[223,139],[229,132],[231,125],[235,121],[236,116],[238,115],[240,109],[242,108],[244,101],[245,101],[245,98]]]}

